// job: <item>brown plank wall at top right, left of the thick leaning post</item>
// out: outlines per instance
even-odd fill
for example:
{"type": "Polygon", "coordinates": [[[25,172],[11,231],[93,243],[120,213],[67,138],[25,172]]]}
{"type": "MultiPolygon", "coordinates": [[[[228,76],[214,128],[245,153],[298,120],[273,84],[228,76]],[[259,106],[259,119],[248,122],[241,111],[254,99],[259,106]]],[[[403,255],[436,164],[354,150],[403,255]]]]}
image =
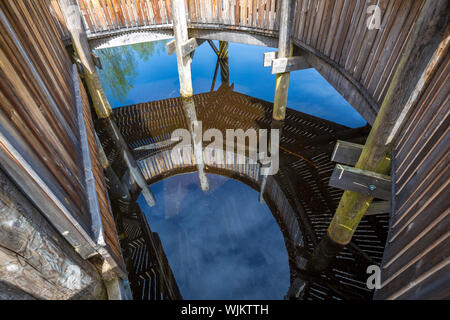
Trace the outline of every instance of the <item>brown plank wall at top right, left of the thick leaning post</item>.
{"type": "MultiPolygon", "coordinates": [[[[423,0],[380,0],[381,28],[367,28],[378,0],[298,0],[293,38],[359,83],[381,106],[423,0]]],[[[376,110],[377,111],[377,110],[376,110]]]]}

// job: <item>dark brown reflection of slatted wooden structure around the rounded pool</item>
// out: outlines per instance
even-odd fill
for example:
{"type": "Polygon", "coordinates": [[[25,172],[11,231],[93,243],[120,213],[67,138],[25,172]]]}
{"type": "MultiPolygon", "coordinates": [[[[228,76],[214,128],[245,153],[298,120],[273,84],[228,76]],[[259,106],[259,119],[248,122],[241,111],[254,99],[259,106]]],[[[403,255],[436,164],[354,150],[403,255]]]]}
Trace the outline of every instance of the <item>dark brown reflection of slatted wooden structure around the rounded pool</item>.
{"type": "MultiPolygon", "coordinates": [[[[225,136],[226,129],[268,129],[271,126],[271,103],[234,92],[226,85],[215,92],[195,95],[194,102],[203,131],[217,128],[225,136]]],[[[181,99],[172,98],[114,110],[118,127],[130,149],[135,150],[149,184],[196,170],[191,149],[187,153],[172,154],[173,143],[164,143],[170,140],[173,130],[188,128],[182,108],[181,99]]],[[[341,191],[327,186],[334,167],[330,161],[334,142],[346,139],[363,143],[367,133],[367,127],[350,129],[290,109],[287,112],[280,146],[281,170],[268,178],[264,198],[283,231],[290,257],[291,284],[296,279],[308,282],[305,297],[370,295],[365,290],[364,266],[368,261],[381,261],[387,235],[386,214],[364,219],[352,246],[341,252],[335,270],[323,279],[317,280],[302,270],[305,256],[311,254],[317,239],[326,232],[342,195],[341,191]],[[346,283],[353,283],[357,289],[346,287],[346,283]]],[[[259,190],[258,165],[237,164],[236,157],[228,159],[224,165],[217,153],[212,152],[205,153],[204,158],[207,173],[232,177],[259,190]]]]}

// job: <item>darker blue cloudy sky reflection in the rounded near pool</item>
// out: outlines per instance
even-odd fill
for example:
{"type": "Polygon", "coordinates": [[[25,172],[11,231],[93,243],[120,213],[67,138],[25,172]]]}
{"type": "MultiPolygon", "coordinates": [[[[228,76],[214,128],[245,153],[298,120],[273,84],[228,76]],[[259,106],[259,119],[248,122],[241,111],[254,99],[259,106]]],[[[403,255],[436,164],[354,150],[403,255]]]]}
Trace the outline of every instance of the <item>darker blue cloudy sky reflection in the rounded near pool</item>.
{"type": "Polygon", "coordinates": [[[289,287],[283,236],[258,193],[241,182],[186,174],[152,186],[147,212],[185,299],[281,299],[289,287]],[[249,199],[251,199],[249,201],[249,199]]]}

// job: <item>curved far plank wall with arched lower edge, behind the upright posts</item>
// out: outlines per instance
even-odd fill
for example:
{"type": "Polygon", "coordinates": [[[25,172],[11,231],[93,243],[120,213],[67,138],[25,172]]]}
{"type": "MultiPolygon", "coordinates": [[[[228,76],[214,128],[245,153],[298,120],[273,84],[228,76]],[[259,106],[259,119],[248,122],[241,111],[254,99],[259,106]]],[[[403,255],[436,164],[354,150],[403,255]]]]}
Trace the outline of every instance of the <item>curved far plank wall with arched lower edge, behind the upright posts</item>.
{"type": "MultiPolygon", "coordinates": [[[[281,2],[186,0],[189,35],[276,48],[281,2]]],[[[377,1],[294,2],[296,50],[373,124],[425,1],[380,1],[379,30],[366,27],[367,8],[377,1]]],[[[170,1],[79,3],[92,48],[173,37],[170,1]]],[[[69,39],[63,25],[60,35],[69,39]]]]}

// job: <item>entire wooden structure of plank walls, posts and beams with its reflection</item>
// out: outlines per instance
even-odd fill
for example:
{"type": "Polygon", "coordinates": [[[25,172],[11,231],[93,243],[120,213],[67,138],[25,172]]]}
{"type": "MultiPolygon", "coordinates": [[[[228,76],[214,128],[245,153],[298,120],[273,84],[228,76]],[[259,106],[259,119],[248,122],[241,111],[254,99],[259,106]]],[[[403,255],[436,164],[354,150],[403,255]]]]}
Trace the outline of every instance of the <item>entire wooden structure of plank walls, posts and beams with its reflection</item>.
{"type": "Polygon", "coordinates": [[[368,264],[382,267],[377,299],[448,298],[448,12],[443,0],[2,2],[0,297],[101,298],[106,281],[110,298],[124,298],[117,279],[128,278],[137,299],[180,298],[134,201],[142,192],[151,204],[147,184],[197,171],[202,188],[209,172],[261,192],[289,253],[289,298],[371,298],[368,264]],[[379,28],[369,28],[373,5],[379,28]],[[183,98],[112,112],[91,50],[172,37],[183,98]],[[189,57],[205,40],[278,48],[255,57],[277,74],[274,104],[228,86],[191,97],[189,57]],[[370,132],[286,108],[289,73],[309,67],[370,132]],[[280,173],[264,179],[257,166],[218,166],[212,155],[204,164],[195,144],[179,159],[168,148],[139,149],[197,119],[281,128],[280,173]],[[389,198],[390,208],[373,198],[389,198]],[[39,250],[52,255],[35,258],[39,250]],[[78,289],[65,285],[72,266],[78,289]]]}

